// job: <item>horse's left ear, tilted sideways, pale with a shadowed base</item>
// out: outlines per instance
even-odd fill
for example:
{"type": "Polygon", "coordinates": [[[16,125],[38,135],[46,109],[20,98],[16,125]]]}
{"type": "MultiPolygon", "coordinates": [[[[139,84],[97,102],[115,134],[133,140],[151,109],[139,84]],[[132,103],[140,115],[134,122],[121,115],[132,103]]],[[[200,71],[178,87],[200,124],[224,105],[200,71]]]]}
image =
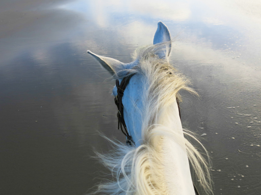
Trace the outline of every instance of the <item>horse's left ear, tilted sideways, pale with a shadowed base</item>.
{"type": "Polygon", "coordinates": [[[87,50],[99,63],[100,65],[108,70],[113,76],[116,75],[117,72],[124,69],[124,63],[115,60],[113,58],[103,57],[101,55],[97,55],[90,50],[87,50]]]}

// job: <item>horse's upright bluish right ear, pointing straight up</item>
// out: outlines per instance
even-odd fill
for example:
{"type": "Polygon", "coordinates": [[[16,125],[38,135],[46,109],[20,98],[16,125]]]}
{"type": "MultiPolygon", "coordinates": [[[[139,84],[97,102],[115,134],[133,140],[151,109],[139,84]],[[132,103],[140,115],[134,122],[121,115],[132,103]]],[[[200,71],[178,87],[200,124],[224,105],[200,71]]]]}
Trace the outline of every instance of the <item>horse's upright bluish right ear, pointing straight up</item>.
{"type": "Polygon", "coordinates": [[[168,58],[171,51],[171,38],[168,27],[161,21],[158,22],[158,29],[154,35],[153,45],[165,43],[163,44],[161,50],[157,51],[156,54],[159,55],[160,58],[168,58]]]}

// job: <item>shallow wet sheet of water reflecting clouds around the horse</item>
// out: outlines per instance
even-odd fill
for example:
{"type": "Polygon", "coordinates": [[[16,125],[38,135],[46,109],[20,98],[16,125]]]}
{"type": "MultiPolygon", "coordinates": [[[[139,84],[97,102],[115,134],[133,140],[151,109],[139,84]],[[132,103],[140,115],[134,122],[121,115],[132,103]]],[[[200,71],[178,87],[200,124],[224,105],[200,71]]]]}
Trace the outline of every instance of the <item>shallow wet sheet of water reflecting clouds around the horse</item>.
{"type": "MultiPolygon", "coordinates": [[[[261,2],[0,2],[0,194],[85,194],[106,171],[94,150],[117,129],[113,80],[87,52],[121,62],[159,20],[181,92],[182,125],[212,157],[214,194],[261,191],[261,2]]],[[[197,180],[194,180],[202,191],[197,180]]]]}

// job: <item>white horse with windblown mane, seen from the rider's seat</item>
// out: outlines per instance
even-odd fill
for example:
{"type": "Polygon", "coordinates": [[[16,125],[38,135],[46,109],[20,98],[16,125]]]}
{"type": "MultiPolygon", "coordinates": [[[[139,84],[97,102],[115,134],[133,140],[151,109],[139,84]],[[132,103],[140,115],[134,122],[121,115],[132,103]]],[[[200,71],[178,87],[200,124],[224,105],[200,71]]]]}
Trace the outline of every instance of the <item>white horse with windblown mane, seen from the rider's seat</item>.
{"type": "Polygon", "coordinates": [[[99,184],[95,193],[195,194],[189,161],[204,192],[213,193],[208,163],[184,137],[197,141],[190,131],[182,129],[179,116],[178,91],[196,92],[169,63],[170,51],[170,33],[161,21],[153,45],[137,49],[131,63],[87,51],[123,84],[114,87],[114,96],[120,99],[117,93],[125,88],[118,117],[122,114],[123,121],[119,121],[123,127],[125,122],[129,145],[111,141],[116,150],[98,154],[114,180],[99,184]]]}

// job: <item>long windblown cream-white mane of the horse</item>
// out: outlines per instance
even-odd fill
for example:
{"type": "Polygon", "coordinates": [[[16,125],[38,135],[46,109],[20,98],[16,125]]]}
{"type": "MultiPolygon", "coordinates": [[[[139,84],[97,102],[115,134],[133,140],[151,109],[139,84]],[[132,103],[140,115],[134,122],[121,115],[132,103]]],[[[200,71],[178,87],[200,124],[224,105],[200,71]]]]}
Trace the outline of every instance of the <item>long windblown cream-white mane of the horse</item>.
{"type": "MultiPolygon", "coordinates": [[[[184,137],[159,124],[159,118],[176,101],[176,97],[181,101],[179,90],[196,94],[188,87],[188,79],[178,73],[167,60],[160,59],[155,54],[165,45],[162,43],[137,49],[134,53],[137,65],[117,73],[118,76],[124,76],[126,72],[140,74],[145,78],[142,89],[144,107],[141,110],[142,144],[137,148],[128,147],[107,138],[114,146],[114,152],[97,155],[111,170],[113,180],[99,184],[94,194],[168,194],[162,174],[164,162],[159,152],[163,136],[168,136],[180,145],[185,143],[190,163],[203,190],[206,194],[213,193],[208,163],[185,137],[192,137],[200,144],[197,138],[188,130],[184,129],[184,137]]],[[[202,148],[205,150],[203,146],[202,148]]],[[[207,152],[206,156],[208,157],[207,152]]]]}

